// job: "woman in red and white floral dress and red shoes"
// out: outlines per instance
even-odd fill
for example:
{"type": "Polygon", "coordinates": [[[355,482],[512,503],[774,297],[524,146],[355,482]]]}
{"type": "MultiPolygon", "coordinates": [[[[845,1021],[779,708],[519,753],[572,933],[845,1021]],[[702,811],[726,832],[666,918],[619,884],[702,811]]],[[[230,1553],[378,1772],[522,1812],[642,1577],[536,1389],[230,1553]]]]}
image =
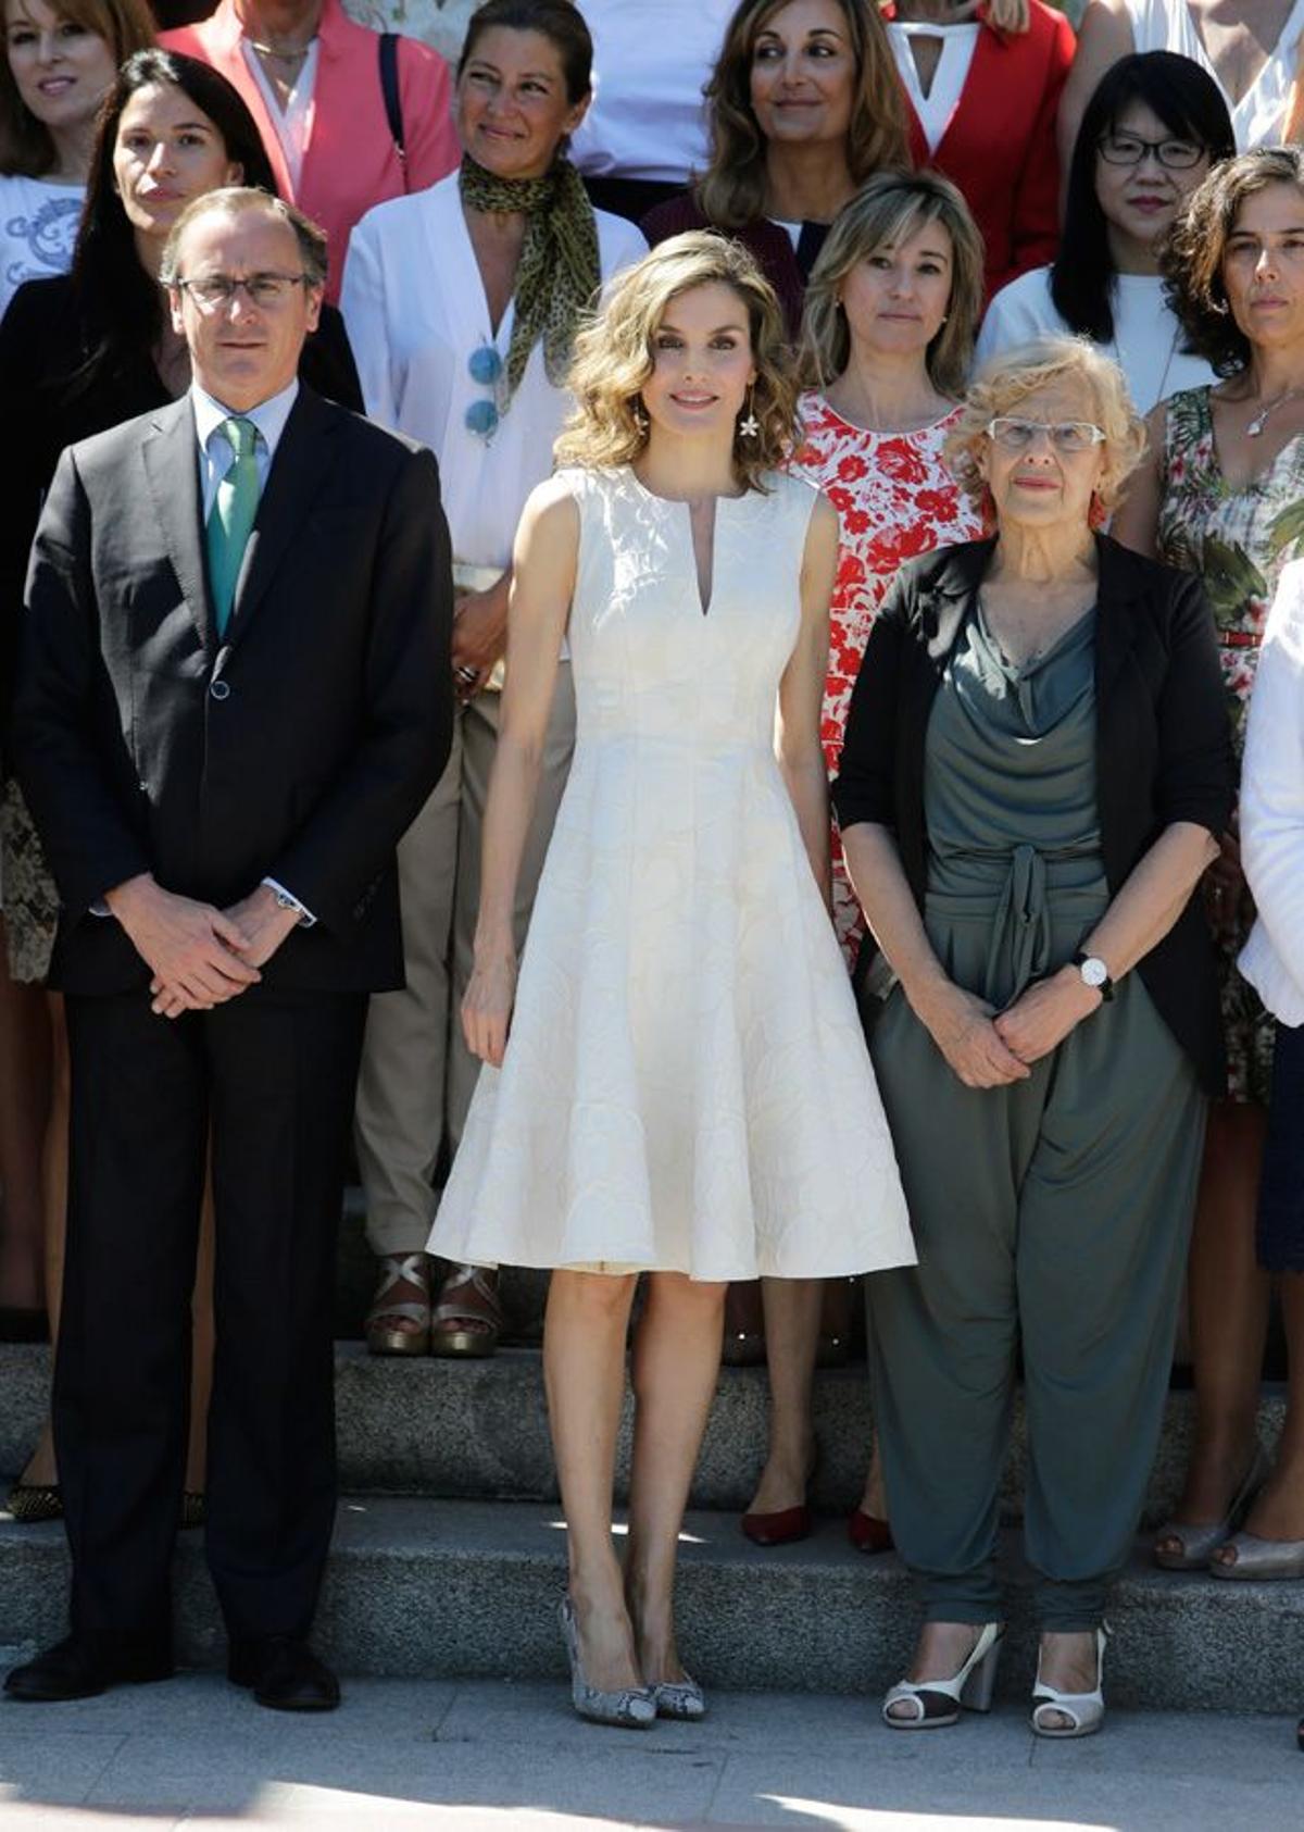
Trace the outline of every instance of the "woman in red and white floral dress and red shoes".
{"type": "MultiPolygon", "coordinates": [[[[802,398],[806,445],[797,462],[837,506],[842,524],[830,610],[824,760],[842,749],[852,687],[874,616],[916,553],[983,533],[982,515],[947,471],[941,447],[969,379],[982,310],[982,238],[952,183],[934,172],[881,172],[841,211],[811,273],[802,398]]],[[[833,830],[833,921],[848,969],[864,934],[833,830]]],[[[762,1281],[769,1363],[769,1455],[744,1532],[782,1544],[810,1532],[815,1464],[811,1381],[819,1281],[762,1281]]],[[[852,1539],[888,1543],[870,1473],[852,1539]]]]}

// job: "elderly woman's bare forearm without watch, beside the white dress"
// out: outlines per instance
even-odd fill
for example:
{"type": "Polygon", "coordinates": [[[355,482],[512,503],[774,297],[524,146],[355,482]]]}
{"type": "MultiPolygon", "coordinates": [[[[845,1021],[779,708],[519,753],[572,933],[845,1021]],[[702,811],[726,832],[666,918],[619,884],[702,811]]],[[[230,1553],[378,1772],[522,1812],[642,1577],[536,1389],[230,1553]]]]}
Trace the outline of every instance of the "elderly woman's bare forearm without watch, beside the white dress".
{"type": "Polygon", "coordinates": [[[993,1008],[941,969],[901,870],[892,834],[872,821],[842,830],[842,857],[864,920],[901,982],[901,991],[967,1088],[1024,1081],[1027,1068],[1002,1041],[993,1008]]]}

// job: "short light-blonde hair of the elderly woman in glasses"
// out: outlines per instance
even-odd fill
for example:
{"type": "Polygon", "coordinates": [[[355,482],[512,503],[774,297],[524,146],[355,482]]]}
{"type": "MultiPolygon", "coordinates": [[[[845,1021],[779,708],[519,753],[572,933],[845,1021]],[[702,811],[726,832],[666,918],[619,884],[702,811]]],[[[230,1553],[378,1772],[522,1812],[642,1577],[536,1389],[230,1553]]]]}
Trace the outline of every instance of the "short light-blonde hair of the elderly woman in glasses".
{"type": "Polygon", "coordinates": [[[1081,381],[1092,398],[1092,418],[1104,432],[1104,471],[1095,485],[1103,517],[1114,515],[1123,485],[1145,454],[1145,423],[1132,405],[1123,370],[1090,337],[1038,337],[993,357],[974,376],[963,409],[945,445],[951,474],[971,496],[987,493],[980,458],[987,427],[1055,381],[1081,381]]]}

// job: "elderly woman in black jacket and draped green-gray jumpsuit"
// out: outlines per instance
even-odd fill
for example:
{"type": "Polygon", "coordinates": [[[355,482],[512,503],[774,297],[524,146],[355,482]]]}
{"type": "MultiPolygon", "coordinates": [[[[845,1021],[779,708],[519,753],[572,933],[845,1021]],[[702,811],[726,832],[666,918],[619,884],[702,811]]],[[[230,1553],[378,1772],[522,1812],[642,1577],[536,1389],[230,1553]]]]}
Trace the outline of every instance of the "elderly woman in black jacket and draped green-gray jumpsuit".
{"type": "Polygon", "coordinates": [[[1022,1341],[1033,1729],[1081,1737],[1104,1713],[1104,1598],[1159,1434],[1222,1086],[1190,892],[1231,808],[1227,713],[1200,586],[1092,531],[1141,454],[1112,363],[1073,339],[1011,352],[951,453],[996,537],[890,592],[835,791],[919,1248],[868,1299],[892,1528],[925,1599],[883,1715],[916,1729],[991,1698],[1022,1341]]]}

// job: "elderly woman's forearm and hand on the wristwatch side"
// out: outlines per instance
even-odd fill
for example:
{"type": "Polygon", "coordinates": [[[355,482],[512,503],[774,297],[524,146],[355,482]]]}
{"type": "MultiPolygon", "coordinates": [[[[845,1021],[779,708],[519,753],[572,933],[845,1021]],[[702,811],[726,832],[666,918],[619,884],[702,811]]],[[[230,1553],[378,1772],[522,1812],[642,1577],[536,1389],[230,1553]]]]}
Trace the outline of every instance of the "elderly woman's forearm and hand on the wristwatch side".
{"type": "MultiPolygon", "coordinates": [[[[1082,942],[1084,954],[1099,956],[1112,980],[1130,973],[1181,916],[1201,872],[1218,857],[1218,841],[1194,821],[1174,821],[1137,859],[1119,894],[1082,942]]],[[[996,1030],[1024,1063],[1035,1063],[1060,1044],[1073,1026],[1101,1004],[1101,995],[1082,984],[1071,964],[1048,980],[1029,986],[996,1030]]]]}

